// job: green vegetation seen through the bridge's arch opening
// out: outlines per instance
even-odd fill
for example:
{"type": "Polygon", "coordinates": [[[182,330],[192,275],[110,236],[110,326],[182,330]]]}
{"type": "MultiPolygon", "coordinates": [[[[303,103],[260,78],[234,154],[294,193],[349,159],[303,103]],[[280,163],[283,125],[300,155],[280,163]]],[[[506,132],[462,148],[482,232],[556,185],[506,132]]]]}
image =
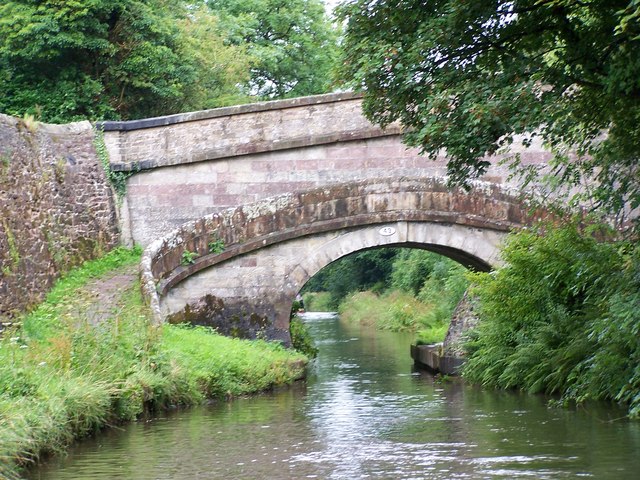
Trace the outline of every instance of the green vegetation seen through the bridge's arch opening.
{"type": "Polygon", "coordinates": [[[441,342],[468,285],[465,271],[425,250],[371,250],[321,271],[305,286],[305,304],[381,330],[417,332],[422,343],[441,342]]]}

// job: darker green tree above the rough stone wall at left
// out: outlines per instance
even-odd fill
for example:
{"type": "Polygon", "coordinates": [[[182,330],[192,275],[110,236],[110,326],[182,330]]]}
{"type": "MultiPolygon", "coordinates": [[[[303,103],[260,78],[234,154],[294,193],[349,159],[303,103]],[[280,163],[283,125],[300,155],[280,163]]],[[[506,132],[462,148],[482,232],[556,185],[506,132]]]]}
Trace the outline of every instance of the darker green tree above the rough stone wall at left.
{"type": "Polygon", "coordinates": [[[217,30],[210,13],[181,1],[7,0],[0,111],[67,122],[214,106],[239,94],[248,72],[243,48],[217,30]]]}

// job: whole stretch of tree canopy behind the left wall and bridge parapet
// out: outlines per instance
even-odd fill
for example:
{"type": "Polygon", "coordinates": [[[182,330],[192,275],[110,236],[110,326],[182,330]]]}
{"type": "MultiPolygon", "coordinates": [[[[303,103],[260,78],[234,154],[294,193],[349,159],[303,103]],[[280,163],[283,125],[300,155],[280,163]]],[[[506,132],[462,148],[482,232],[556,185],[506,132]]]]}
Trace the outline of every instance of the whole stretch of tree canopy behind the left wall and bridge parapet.
{"type": "Polygon", "coordinates": [[[336,52],[321,0],[6,0],[0,111],[127,120],[324,93],[336,52]]]}

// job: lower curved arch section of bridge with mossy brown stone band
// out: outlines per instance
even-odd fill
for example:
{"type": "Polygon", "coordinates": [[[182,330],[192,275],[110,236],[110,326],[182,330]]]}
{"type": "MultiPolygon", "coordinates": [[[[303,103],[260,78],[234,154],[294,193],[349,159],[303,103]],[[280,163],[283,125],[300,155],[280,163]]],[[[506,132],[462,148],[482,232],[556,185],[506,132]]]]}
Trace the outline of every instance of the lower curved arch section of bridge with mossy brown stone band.
{"type": "Polygon", "coordinates": [[[143,288],[158,322],[288,343],[295,294],[338,258],[417,246],[486,270],[499,263],[504,235],[530,218],[520,195],[499,185],[479,183],[465,192],[449,189],[443,178],[335,184],[183,225],[145,250],[143,288]],[[210,252],[219,240],[225,250],[210,252]]]}

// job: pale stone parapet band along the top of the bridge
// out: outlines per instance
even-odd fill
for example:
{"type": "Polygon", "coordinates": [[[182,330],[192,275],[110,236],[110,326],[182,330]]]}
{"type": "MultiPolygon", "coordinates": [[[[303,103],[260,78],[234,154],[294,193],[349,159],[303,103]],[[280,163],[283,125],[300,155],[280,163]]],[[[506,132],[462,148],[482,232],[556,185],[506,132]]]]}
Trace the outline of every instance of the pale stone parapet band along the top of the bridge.
{"type": "Polygon", "coordinates": [[[100,122],[111,168],[140,171],[397,135],[361,112],[353,93],[301,97],[128,122],[100,122]]]}

